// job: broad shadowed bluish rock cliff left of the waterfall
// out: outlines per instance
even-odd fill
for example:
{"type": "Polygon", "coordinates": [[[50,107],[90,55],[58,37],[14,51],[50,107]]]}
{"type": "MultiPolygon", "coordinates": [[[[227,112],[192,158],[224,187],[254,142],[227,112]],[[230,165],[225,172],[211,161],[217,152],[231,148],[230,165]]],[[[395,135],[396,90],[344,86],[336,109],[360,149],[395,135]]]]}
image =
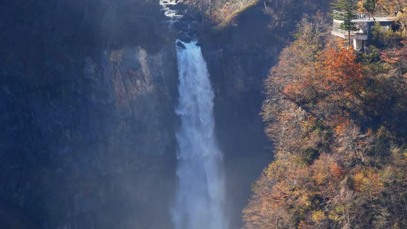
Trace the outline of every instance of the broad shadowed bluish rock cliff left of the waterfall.
{"type": "Polygon", "coordinates": [[[169,224],[175,37],[155,18],[158,2],[85,2],[5,3],[1,227],[169,224]],[[26,14],[14,23],[21,9],[26,14]],[[144,10],[141,19],[134,10],[144,10]]]}

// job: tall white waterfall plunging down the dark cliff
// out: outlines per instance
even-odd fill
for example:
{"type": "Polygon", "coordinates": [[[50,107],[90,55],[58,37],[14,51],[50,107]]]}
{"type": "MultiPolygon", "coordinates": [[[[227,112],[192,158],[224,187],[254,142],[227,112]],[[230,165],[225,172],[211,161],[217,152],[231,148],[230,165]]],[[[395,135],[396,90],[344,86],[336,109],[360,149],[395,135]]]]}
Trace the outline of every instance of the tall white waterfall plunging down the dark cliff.
{"type": "MultiPolygon", "coordinates": [[[[181,41],[180,41],[181,42],[181,41]]],[[[196,42],[177,47],[179,106],[176,229],[228,228],[222,155],[215,140],[214,93],[206,62],[196,42]]]]}

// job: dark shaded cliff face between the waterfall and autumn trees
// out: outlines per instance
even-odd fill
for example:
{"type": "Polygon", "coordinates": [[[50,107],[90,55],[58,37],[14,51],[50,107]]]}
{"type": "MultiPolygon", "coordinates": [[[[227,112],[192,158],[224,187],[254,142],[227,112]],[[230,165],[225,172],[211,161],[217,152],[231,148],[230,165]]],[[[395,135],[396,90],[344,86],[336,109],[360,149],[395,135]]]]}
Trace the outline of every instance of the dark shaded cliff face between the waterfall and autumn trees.
{"type": "Polygon", "coordinates": [[[241,210],[251,183],[272,159],[259,112],[263,81],[288,39],[287,28],[269,28],[264,6],[242,12],[235,26],[202,41],[215,90],[217,135],[225,153],[230,228],[241,228],[241,210]]]}

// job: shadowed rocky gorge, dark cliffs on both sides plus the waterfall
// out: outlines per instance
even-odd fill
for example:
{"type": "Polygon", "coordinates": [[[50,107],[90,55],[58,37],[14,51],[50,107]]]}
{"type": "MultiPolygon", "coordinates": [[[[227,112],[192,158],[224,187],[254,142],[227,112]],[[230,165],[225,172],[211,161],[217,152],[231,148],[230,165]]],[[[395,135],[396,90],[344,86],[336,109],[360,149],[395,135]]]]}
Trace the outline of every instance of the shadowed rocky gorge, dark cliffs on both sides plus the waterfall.
{"type": "Polygon", "coordinates": [[[217,31],[181,4],[168,24],[158,1],[1,4],[0,226],[243,226],[272,159],[263,81],[292,23],[270,26],[264,3],[217,31]],[[185,27],[199,43],[183,49],[185,27]]]}

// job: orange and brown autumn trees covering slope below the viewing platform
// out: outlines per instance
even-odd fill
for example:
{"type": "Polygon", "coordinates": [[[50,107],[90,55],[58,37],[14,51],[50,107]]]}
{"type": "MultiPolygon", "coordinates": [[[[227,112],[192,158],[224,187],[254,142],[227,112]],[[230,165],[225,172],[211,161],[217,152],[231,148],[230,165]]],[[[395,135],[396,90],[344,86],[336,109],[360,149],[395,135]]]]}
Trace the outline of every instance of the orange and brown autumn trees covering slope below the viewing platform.
{"type": "Polygon", "coordinates": [[[303,19],[266,80],[272,161],[244,228],[407,227],[406,43],[359,53],[303,19]]]}

